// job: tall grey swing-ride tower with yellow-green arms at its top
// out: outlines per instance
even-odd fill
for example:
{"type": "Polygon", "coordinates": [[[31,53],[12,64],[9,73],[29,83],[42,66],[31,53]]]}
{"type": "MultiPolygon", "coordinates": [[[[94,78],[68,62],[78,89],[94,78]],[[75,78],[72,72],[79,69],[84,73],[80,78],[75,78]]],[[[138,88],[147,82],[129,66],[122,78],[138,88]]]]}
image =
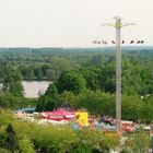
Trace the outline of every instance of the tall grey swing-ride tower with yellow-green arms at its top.
{"type": "Polygon", "coordinates": [[[116,123],[117,131],[121,132],[121,28],[129,25],[122,23],[120,16],[115,16],[115,23],[104,24],[116,28],[116,123]]]}

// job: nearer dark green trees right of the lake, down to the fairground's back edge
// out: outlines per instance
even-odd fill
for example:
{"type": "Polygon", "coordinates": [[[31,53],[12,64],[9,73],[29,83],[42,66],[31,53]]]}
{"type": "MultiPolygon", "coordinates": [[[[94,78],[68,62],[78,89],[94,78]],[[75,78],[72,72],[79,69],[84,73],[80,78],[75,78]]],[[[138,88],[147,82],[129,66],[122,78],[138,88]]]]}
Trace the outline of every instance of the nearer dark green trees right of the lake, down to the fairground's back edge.
{"type": "MultiPolygon", "coordinates": [[[[69,102],[75,108],[86,108],[91,114],[115,117],[115,84],[114,61],[109,61],[103,68],[66,71],[40,96],[37,110],[50,110],[69,102]]],[[[139,67],[136,60],[125,59],[122,62],[122,119],[152,121],[152,73],[139,67]]]]}

